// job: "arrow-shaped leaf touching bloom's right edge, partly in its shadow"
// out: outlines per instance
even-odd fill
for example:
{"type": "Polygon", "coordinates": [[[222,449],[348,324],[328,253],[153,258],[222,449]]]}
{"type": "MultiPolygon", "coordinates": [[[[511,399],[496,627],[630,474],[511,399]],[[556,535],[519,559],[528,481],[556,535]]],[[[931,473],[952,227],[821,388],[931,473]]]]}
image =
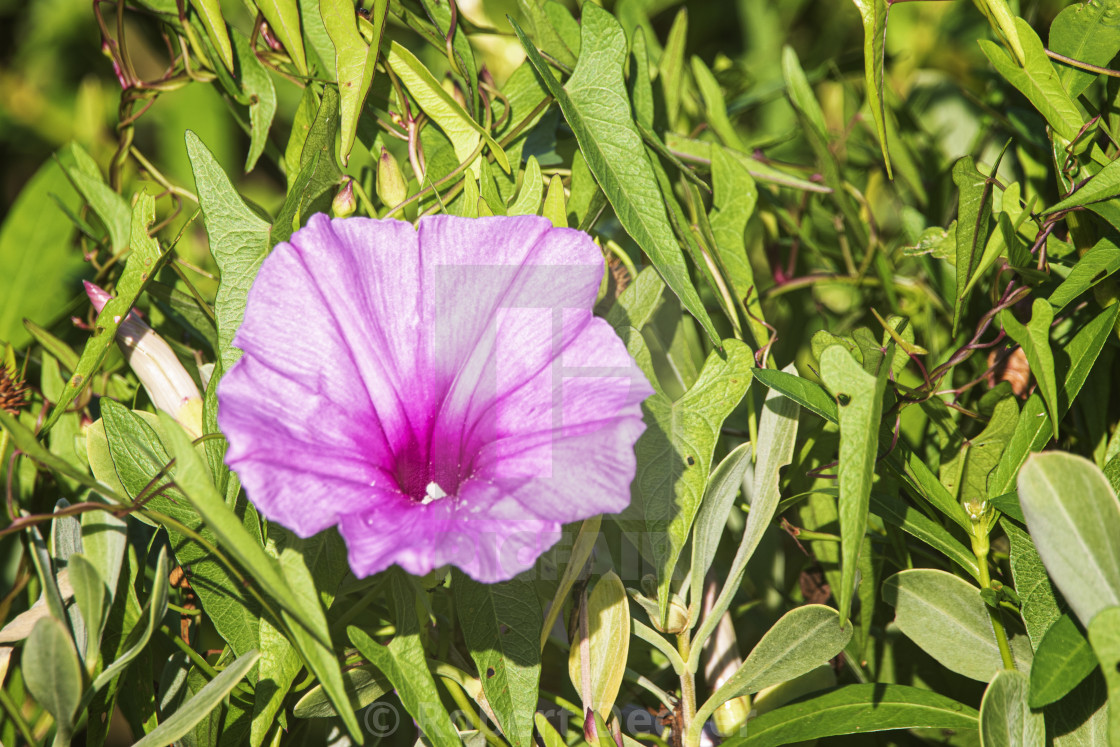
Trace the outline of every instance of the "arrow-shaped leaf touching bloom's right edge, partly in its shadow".
{"type": "MultiPolygon", "coordinates": [[[[673,569],[703,497],[720,427],[750,384],[750,348],[731,339],[724,345],[722,355],[713,352],[708,357],[700,377],[681,399],[673,402],[657,391],[642,404],[648,428],[635,446],[634,499],[622,516],[650,538],[663,620],[673,569]]],[[[641,335],[631,335],[627,347],[640,362],[648,361],[641,335]]],[[[651,383],[657,387],[656,381],[651,383]]]]}

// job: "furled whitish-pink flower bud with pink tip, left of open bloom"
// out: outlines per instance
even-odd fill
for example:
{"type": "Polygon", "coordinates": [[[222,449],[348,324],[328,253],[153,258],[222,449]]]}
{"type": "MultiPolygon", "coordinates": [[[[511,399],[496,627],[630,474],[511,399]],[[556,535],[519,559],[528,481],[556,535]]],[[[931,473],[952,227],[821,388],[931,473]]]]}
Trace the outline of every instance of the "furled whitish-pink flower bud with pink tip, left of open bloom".
{"type": "MultiPolygon", "coordinates": [[[[83,283],[93,308],[100,312],[112,296],[92,282],[83,283]]],[[[116,328],[116,344],[156,409],[175,418],[192,438],[200,437],[203,400],[190,374],[164,338],[139,314],[129,311],[116,328]]]]}

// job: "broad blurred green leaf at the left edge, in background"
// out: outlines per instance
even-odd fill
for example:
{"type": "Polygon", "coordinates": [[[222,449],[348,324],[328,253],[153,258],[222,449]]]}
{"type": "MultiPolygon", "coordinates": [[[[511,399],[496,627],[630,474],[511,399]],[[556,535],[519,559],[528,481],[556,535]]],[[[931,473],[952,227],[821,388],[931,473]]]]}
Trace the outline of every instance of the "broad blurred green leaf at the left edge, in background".
{"type": "Polygon", "coordinates": [[[22,319],[54,321],[58,299],[75,292],[74,283],[87,268],[72,246],[74,226],[56,212],[52,195],[69,211],[82,204],[63,169],[47,161],[24,185],[0,227],[0,265],[4,268],[0,272],[0,339],[16,347],[30,339],[22,319]]]}

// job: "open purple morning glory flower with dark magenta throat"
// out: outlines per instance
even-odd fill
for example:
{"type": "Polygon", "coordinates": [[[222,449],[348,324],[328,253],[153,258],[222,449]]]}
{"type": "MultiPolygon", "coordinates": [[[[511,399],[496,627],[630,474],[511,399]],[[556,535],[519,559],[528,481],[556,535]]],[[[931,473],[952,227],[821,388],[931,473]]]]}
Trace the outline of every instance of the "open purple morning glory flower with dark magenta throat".
{"type": "Polygon", "coordinates": [[[226,460],[268,519],[349,564],[480,581],[629,503],[652,393],[591,316],[603,256],[539,217],[315,215],[264,260],[218,385],[226,460]]]}

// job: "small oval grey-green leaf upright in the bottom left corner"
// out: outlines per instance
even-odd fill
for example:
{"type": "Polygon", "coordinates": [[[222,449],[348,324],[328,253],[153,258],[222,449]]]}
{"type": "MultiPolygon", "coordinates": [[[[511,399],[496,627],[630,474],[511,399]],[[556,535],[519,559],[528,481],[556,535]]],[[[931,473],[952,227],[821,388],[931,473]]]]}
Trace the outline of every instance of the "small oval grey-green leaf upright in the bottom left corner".
{"type": "Polygon", "coordinates": [[[20,654],[20,672],[28,691],[55,717],[62,744],[68,744],[73,719],[82,700],[82,665],[65,624],[44,617],[35,624],[20,654]]]}

